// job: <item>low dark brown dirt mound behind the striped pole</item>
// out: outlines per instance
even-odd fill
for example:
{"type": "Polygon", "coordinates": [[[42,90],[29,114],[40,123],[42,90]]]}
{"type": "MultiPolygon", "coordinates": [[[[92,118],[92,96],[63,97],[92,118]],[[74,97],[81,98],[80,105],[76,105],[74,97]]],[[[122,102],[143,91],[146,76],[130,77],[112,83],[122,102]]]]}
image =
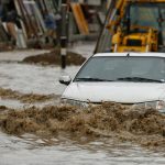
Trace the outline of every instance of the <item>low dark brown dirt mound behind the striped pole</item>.
{"type": "MultiPolygon", "coordinates": [[[[81,65],[86,58],[80,54],[67,52],[66,64],[67,65],[81,65]]],[[[40,65],[61,65],[61,50],[55,48],[51,53],[45,53],[36,56],[30,56],[22,61],[28,64],[40,64],[40,65]]]]}

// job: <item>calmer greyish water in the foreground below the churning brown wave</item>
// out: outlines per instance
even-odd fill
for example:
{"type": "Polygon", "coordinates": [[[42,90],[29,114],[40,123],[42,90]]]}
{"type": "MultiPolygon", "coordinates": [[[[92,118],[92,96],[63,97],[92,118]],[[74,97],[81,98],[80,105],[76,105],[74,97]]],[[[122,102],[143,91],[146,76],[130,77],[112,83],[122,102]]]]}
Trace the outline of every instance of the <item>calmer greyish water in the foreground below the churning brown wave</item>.
{"type": "Polygon", "coordinates": [[[1,165],[163,165],[164,153],[151,152],[130,143],[113,143],[109,139],[72,140],[67,135],[41,140],[0,135],[1,165]]]}

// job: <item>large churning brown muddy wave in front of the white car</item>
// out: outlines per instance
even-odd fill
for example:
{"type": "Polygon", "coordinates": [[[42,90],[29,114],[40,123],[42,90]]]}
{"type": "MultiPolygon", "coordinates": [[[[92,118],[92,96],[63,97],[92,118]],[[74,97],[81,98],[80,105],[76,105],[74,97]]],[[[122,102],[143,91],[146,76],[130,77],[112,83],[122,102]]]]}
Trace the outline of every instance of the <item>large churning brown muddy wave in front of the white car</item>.
{"type": "Polygon", "coordinates": [[[154,109],[124,107],[107,102],[97,107],[32,107],[10,110],[0,116],[0,128],[14,135],[33,133],[55,136],[59,132],[74,136],[107,136],[147,147],[165,147],[165,116],[154,109]]]}

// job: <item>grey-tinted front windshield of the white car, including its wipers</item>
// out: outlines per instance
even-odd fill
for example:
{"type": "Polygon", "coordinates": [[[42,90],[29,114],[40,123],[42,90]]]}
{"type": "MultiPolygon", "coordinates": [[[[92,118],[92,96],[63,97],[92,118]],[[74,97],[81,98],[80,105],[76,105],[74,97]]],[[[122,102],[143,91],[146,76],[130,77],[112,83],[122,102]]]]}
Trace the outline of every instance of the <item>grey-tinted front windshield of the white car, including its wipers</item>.
{"type": "Polygon", "coordinates": [[[79,70],[74,81],[165,81],[163,57],[113,57],[90,58],[79,70]]]}

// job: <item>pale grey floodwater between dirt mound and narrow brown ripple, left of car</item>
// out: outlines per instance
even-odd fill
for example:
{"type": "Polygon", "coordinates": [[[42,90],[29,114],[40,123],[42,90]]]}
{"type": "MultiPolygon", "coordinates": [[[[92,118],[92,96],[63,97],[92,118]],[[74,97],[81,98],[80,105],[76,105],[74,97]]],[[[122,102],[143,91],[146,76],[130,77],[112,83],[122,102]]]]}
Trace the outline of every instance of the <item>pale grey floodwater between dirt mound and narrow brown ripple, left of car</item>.
{"type": "Polygon", "coordinates": [[[0,64],[0,87],[18,90],[24,94],[56,94],[61,95],[64,86],[58,82],[61,75],[74,77],[79,67],[67,67],[65,72],[61,67],[43,67],[16,63],[0,64]]]}

